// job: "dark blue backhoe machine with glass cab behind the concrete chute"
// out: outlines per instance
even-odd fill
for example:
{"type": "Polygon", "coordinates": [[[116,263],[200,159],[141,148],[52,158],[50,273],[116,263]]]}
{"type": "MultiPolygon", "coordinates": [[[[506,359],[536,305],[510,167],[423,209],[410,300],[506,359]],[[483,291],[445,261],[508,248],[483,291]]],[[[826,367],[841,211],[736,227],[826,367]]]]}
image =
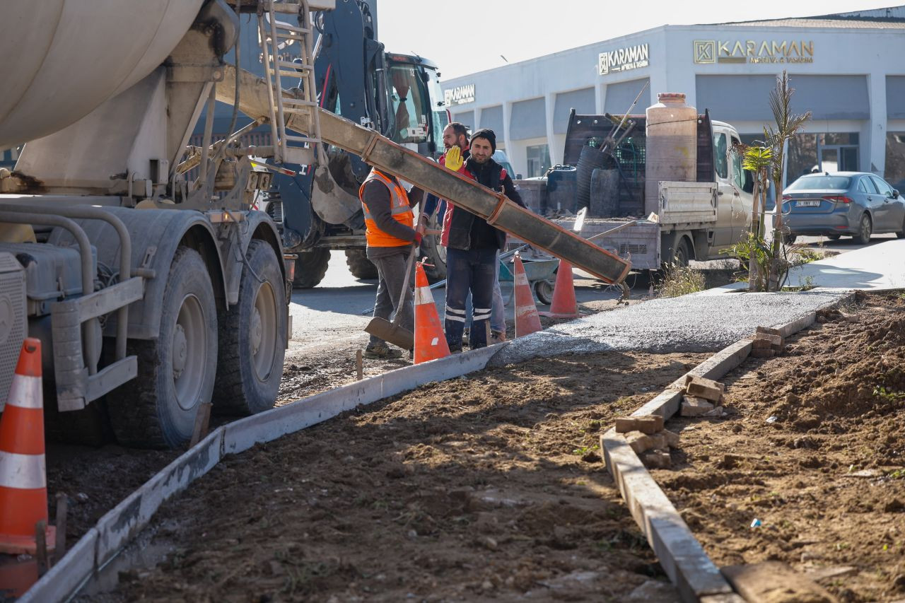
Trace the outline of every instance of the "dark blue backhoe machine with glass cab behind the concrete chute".
{"type": "MultiPolygon", "coordinates": [[[[421,56],[386,53],[376,41],[376,21],[376,0],[344,2],[313,16],[319,107],[437,158],[449,123],[437,66],[421,56]]],[[[288,165],[284,168],[295,174],[274,173],[262,204],[280,228],[285,250],[297,254],[293,285],[301,289],[321,281],[330,250],[345,251],[348,269],[357,278],[376,278],[376,267],[365,256],[358,201],[370,167],[339,148],[326,150],[327,169],[288,165]]],[[[432,280],[445,278],[438,240],[429,235],[422,244],[433,260],[428,269],[432,280]]]]}

